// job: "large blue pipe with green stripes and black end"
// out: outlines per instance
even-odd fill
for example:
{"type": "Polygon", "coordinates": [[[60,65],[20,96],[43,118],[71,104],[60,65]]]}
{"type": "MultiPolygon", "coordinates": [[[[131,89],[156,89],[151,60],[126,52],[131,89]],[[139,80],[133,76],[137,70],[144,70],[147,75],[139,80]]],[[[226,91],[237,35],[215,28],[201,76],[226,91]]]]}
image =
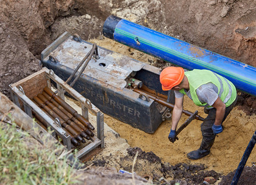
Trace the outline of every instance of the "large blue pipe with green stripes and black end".
{"type": "Polygon", "coordinates": [[[103,35],[188,70],[208,69],[233,82],[236,89],[256,96],[256,68],[171,36],[110,15],[103,35]]]}

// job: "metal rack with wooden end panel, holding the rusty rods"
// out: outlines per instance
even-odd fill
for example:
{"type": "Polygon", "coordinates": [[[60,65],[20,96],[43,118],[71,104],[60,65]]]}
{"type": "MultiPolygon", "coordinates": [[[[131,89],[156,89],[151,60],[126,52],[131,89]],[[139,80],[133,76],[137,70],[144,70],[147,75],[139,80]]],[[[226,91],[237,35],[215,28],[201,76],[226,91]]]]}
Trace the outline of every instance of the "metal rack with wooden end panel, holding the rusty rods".
{"type": "Polygon", "coordinates": [[[33,112],[37,113],[40,118],[46,121],[48,127],[51,127],[53,131],[52,136],[60,136],[63,141],[63,145],[66,146],[68,150],[73,149],[74,145],[71,143],[71,136],[68,135],[66,131],[60,127],[58,123],[56,123],[56,121],[50,118],[30,99],[38,93],[43,92],[44,87],[49,87],[51,89],[51,80],[57,84],[58,96],[60,96],[60,98],[64,99],[64,92],[68,92],[69,95],[73,96],[77,101],[80,102],[82,116],[85,119],[89,120],[89,110],[91,113],[93,113],[93,115],[96,116],[97,136],[91,137],[92,142],[79,150],[76,157],[80,159],[90,153],[96,147],[101,147],[101,149],[104,148],[104,114],[96,106],[91,104],[89,99],[84,98],[84,96],[80,95],[80,93],[60,79],[59,76],[55,75],[52,70],[44,67],[39,72],[27,76],[27,78],[24,78],[15,84],[10,84],[9,87],[11,89],[10,92],[13,102],[18,107],[24,107],[24,112],[26,112],[30,117],[33,116],[33,112]],[[33,84],[38,87],[32,87],[33,84]]]}

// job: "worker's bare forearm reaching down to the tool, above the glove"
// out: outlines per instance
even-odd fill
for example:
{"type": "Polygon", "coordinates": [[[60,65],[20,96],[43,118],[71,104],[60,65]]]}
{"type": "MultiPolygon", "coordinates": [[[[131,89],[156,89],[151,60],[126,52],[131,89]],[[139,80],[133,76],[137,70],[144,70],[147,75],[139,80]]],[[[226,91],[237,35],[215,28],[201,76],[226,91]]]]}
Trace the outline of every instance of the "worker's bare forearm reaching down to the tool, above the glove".
{"type": "Polygon", "coordinates": [[[172,125],[171,129],[176,130],[177,125],[180,121],[180,117],[182,116],[182,110],[183,110],[183,98],[175,98],[175,105],[172,110],[172,125]]]}

